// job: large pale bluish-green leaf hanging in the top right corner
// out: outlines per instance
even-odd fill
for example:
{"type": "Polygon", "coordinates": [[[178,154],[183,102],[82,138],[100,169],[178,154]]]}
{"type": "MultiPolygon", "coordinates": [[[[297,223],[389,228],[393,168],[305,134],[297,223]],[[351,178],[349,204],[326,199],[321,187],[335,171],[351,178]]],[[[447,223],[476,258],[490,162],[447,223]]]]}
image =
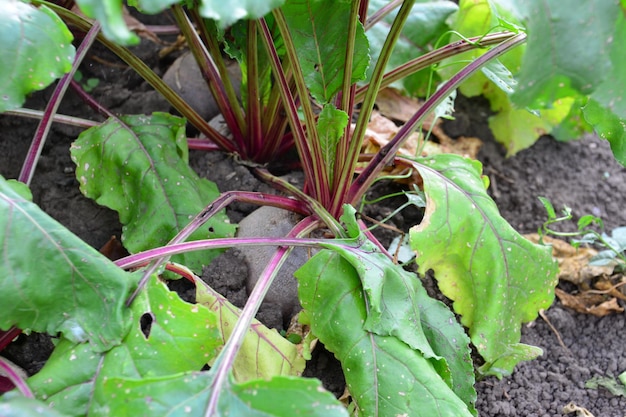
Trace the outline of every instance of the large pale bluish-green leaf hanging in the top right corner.
{"type": "Polygon", "coordinates": [[[619,2],[589,0],[571,7],[560,0],[530,0],[518,7],[528,29],[513,94],[518,106],[547,107],[562,97],[589,94],[607,79],[612,44],[621,43],[614,38],[623,13],[619,2]]]}

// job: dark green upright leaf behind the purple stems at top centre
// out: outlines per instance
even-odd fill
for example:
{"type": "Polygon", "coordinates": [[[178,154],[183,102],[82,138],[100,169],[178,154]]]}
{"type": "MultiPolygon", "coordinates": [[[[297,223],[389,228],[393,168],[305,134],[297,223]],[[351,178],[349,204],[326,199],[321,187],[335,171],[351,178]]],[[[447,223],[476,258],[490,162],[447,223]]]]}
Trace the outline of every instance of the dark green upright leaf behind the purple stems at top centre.
{"type": "MultiPolygon", "coordinates": [[[[328,103],[343,84],[350,2],[289,0],[282,8],[311,95],[328,103]]],[[[365,79],[369,46],[363,26],[356,31],[351,82],[365,79]]]]}

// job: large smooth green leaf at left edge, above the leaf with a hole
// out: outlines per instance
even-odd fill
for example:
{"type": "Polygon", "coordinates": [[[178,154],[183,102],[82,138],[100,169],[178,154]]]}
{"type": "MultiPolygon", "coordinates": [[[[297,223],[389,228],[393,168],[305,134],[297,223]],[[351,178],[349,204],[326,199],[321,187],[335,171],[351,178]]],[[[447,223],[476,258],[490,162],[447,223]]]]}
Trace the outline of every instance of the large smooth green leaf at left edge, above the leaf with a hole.
{"type": "Polygon", "coordinates": [[[0,242],[1,329],[62,332],[100,352],[120,343],[129,328],[124,301],[135,279],[1,176],[0,242]]]}

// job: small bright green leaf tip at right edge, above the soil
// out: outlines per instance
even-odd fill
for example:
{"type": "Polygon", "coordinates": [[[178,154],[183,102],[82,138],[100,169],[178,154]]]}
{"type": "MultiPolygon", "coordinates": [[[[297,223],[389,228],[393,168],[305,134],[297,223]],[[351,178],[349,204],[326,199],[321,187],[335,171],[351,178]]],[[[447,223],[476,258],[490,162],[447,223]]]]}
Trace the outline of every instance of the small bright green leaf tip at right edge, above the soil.
{"type": "Polygon", "coordinates": [[[598,135],[609,141],[615,159],[626,166],[626,119],[619,118],[595,100],[589,100],[583,114],[598,135]]]}

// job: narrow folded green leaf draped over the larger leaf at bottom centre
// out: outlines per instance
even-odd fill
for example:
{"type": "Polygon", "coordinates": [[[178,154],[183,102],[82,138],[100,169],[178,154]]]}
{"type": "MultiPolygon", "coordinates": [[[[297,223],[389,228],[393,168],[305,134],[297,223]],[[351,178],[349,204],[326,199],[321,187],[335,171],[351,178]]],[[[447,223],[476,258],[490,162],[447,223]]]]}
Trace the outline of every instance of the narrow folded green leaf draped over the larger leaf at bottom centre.
{"type": "Polygon", "coordinates": [[[428,296],[415,274],[395,265],[365,238],[358,229],[354,207],[346,205],[341,220],[357,238],[358,250],[332,245],[328,248],[341,254],[359,274],[368,305],[363,329],[395,336],[419,350],[473,410],[476,392],[469,338],[454,314],[428,296]]]}

